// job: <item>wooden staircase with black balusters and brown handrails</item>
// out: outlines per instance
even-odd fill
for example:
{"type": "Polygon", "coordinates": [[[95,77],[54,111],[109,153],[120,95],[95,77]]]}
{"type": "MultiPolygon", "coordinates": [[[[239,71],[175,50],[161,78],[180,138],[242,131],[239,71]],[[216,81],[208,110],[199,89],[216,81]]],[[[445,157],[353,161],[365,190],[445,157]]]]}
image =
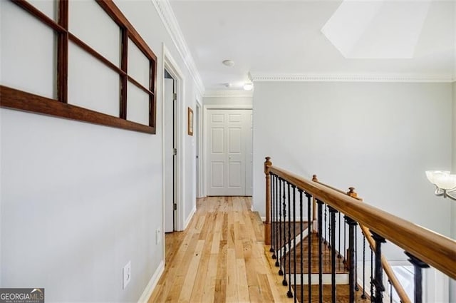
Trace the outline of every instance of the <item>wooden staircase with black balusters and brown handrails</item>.
{"type": "Polygon", "coordinates": [[[423,268],[456,278],[455,240],[366,205],[354,188],[343,192],[276,168],[270,158],[264,173],[264,241],[293,302],[412,302],[382,254],[387,240],[414,266],[415,303],[423,302],[423,268]]]}

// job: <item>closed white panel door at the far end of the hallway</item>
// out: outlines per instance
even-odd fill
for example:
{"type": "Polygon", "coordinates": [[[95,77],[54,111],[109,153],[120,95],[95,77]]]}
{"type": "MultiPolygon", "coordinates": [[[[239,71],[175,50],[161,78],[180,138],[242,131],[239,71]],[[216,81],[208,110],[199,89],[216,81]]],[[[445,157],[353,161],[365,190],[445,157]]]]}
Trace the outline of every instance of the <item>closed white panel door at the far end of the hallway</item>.
{"type": "Polygon", "coordinates": [[[252,145],[252,110],[207,113],[207,195],[248,195],[246,171],[250,165],[248,146],[252,145]]]}

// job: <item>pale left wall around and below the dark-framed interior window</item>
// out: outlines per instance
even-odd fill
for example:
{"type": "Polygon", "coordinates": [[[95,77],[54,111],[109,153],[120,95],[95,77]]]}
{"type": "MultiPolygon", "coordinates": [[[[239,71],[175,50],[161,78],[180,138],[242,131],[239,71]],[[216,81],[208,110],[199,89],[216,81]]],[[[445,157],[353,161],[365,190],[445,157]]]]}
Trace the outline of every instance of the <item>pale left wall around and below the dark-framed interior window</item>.
{"type": "MultiPolygon", "coordinates": [[[[0,109],[1,287],[45,287],[46,302],[138,301],[164,260],[164,241],[155,245],[162,227],[162,43],[185,73],[182,107],[195,108],[198,93],[152,2],[115,4],[158,58],[156,135],[0,109]],[[132,279],[122,289],[129,260],[132,279]]],[[[15,16],[4,5],[2,63],[20,58],[7,51],[4,22],[15,16]]],[[[14,64],[1,66],[6,83],[14,64]]],[[[42,76],[33,71],[32,78],[42,76]]],[[[193,140],[182,140],[187,217],[195,206],[193,140]]]]}

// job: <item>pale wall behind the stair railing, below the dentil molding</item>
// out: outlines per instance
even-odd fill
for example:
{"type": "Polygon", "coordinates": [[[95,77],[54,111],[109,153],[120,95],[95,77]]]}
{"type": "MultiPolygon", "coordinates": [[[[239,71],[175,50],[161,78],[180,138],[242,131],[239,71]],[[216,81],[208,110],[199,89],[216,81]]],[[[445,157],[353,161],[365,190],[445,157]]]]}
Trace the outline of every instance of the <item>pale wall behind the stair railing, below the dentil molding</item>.
{"type": "Polygon", "coordinates": [[[435,197],[425,177],[451,166],[450,83],[254,85],[254,209],[261,215],[268,155],[274,165],[353,186],[369,204],[450,235],[450,202],[435,197]]]}

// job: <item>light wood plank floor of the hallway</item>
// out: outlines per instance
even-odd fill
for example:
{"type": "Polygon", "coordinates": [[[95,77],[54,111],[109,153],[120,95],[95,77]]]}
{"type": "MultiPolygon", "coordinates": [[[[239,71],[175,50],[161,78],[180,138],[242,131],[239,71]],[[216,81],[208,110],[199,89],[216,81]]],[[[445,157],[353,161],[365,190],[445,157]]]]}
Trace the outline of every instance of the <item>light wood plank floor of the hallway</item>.
{"type": "Polygon", "coordinates": [[[165,235],[165,272],[149,303],[290,302],[250,209],[249,197],[198,200],[187,230],[165,235]]]}

